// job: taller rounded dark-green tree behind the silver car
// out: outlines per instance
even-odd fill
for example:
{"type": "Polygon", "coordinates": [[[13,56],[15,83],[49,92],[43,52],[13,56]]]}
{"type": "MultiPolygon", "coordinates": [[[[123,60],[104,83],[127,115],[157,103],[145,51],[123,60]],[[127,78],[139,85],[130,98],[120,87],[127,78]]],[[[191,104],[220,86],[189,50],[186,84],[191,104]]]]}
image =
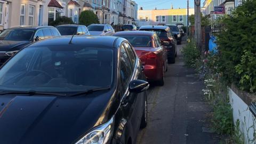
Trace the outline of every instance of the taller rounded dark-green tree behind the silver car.
{"type": "Polygon", "coordinates": [[[99,23],[99,18],[93,11],[86,10],[81,12],[79,16],[79,23],[81,25],[89,26],[92,23],[99,23]]]}

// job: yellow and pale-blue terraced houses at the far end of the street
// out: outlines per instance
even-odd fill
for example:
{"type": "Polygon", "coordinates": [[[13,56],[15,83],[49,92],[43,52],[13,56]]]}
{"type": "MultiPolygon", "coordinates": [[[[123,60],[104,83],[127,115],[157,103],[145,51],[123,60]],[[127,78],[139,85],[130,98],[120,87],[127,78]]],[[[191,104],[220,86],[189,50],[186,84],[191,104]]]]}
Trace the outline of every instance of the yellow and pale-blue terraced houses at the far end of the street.
{"type": "MultiPolygon", "coordinates": [[[[189,9],[189,15],[194,14],[194,9],[189,9]]],[[[172,25],[182,23],[187,26],[187,9],[164,9],[138,11],[139,26],[145,25],[172,25]]]]}

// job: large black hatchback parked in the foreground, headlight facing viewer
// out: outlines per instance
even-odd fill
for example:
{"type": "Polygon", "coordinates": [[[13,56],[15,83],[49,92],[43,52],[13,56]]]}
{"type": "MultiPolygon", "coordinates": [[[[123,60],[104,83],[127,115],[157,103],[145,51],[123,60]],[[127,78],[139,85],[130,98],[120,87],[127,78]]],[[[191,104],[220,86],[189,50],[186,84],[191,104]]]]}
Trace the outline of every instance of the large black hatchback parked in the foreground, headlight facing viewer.
{"type": "Polygon", "coordinates": [[[135,143],[149,84],[118,37],[45,39],[0,70],[0,143],[135,143]]]}

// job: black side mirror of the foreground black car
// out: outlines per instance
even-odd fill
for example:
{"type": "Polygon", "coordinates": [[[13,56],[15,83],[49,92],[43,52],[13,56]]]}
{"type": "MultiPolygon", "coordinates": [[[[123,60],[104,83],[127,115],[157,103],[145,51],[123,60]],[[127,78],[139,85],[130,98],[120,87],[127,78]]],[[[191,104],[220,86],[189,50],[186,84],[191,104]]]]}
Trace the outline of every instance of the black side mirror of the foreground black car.
{"type": "Polygon", "coordinates": [[[134,92],[134,93],[140,93],[143,91],[146,91],[149,87],[149,83],[146,81],[142,81],[142,80],[133,80],[130,82],[129,84],[129,90],[130,92],[134,92]]]}

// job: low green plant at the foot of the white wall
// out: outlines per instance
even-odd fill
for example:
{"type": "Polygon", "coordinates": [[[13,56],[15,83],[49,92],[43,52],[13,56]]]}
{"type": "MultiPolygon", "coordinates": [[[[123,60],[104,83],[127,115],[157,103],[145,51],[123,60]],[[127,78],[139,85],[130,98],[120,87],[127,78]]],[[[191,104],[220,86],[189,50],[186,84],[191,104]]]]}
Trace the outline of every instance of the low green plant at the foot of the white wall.
{"type": "Polygon", "coordinates": [[[232,109],[229,103],[219,101],[213,107],[213,129],[218,134],[231,134],[233,130],[232,109]]]}

